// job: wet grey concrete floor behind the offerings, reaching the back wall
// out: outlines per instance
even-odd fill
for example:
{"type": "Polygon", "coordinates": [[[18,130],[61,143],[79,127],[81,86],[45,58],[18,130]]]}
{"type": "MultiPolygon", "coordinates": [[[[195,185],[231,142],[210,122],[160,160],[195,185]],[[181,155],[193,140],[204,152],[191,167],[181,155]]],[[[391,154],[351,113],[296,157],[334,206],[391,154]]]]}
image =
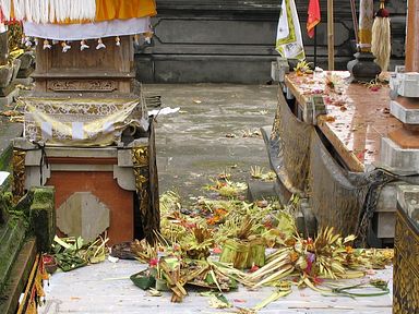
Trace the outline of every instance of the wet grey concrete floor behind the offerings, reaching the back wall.
{"type": "Polygon", "coordinates": [[[145,90],[161,95],[163,107],[180,107],[179,113],[157,117],[160,192],[176,190],[188,198],[201,195],[201,188],[224,170],[235,181],[247,181],[252,166],[270,169],[262,136],[243,134],[272,125],[276,86],[145,85],[145,90]]]}

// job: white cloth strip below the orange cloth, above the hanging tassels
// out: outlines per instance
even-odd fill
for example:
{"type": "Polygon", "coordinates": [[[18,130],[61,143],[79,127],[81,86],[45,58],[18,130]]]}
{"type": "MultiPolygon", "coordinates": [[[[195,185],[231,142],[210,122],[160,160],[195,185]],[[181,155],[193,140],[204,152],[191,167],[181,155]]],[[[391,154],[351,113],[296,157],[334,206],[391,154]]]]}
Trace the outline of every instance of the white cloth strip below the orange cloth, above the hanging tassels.
{"type": "Polygon", "coordinates": [[[112,20],[85,24],[37,24],[24,22],[26,36],[53,40],[82,40],[149,32],[149,17],[112,20]]]}

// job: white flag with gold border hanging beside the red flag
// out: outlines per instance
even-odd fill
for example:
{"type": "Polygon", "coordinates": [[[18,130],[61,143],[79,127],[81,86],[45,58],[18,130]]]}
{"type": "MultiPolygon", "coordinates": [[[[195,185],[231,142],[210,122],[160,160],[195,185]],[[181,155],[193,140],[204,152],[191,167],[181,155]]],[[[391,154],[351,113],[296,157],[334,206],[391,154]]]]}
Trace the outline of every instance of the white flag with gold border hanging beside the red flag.
{"type": "Polygon", "coordinates": [[[296,2],[283,0],[276,33],[276,50],[284,58],[306,59],[296,2]]]}

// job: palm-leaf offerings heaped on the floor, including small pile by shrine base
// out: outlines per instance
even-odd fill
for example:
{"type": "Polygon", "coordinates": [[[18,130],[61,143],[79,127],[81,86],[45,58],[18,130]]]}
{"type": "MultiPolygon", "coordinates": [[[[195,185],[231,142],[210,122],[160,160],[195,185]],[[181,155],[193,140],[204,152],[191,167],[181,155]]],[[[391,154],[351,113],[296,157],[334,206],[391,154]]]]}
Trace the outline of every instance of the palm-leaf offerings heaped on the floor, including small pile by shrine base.
{"type": "MultiPolygon", "coordinates": [[[[190,286],[216,291],[208,297],[211,306],[217,309],[231,305],[223,293],[238,285],[275,289],[254,307],[236,307],[239,312],[235,313],[256,313],[292,293],[292,286],[351,298],[388,293],[385,281],[343,286],[340,280],[385,268],[392,263],[393,250],[356,249],[354,235],[342,235],[333,227],[320,229],[314,238],[303,238],[294,218],[298,196],[286,206],[275,200],[250,203],[243,201],[243,186],[224,176],[210,189],[211,196],[194,198],[190,206],[182,204],[179,194],[164,193],[158,243],[129,243],[130,253],[148,264],[147,269],[130,277],[133,283],[151,289],[152,295],[170,291],[172,302],[182,302],[190,286]],[[223,190],[226,186],[228,193],[223,190]]],[[[91,244],[56,238],[55,257],[64,270],[97,263],[105,258],[106,242],[103,238],[91,244]]]]}

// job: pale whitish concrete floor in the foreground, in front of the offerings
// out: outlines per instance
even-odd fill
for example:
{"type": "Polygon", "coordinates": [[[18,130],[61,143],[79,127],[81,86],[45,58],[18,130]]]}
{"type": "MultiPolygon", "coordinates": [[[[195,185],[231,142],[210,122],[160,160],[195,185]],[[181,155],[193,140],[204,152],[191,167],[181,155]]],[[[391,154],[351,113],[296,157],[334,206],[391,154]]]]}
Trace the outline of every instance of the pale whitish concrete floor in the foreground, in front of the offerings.
{"type": "MultiPolygon", "coordinates": [[[[182,303],[171,303],[170,292],[161,297],[151,297],[148,292],[135,287],[129,277],[145,269],[145,265],[134,261],[108,261],[72,270],[56,273],[46,286],[46,303],[39,307],[39,314],[216,314],[238,313],[237,307],[251,309],[274,289],[265,287],[254,291],[240,287],[238,291],[225,293],[235,307],[217,310],[210,307],[208,297],[200,295],[197,290],[188,288],[182,303]]],[[[380,271],[374,278],[387,279],[392,269],[380,271]]],[[[340,282],[352,285],[360,280],[340,282]]],[[[392,282],[390,282],[390,286],[392,282]]],[[[371,298],[323,297],[311,290],[298,290],[271,303],[259,314],[391,314],[391,294],[371,298]]],[[[366,293],[366,291],[361,291],[366,293]]],[[[390,292],[392,293],[392,292],[390,292]]]]}

